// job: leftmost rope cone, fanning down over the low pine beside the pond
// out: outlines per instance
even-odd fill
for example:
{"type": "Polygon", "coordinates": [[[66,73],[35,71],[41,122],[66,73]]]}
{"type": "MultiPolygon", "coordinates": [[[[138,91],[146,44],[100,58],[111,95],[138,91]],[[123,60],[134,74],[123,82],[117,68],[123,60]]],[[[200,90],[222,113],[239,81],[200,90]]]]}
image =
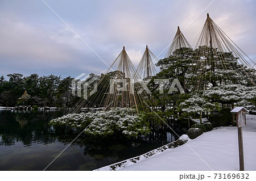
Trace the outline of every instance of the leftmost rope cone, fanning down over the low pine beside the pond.
{"type": "Polygon", "coordinates": [[[103,108],[108,111],[114,108],[133,108],[135,113],[152,106],[154,100],[142,89],[141,77],[134,68],[129,56],[123,47],[121,53],[109,66],[105,74],[101,75],[97,83],[97,91],[88,99],[81,98],[75,107],[68,113],[79,113],[81,108],[103,108]]]}

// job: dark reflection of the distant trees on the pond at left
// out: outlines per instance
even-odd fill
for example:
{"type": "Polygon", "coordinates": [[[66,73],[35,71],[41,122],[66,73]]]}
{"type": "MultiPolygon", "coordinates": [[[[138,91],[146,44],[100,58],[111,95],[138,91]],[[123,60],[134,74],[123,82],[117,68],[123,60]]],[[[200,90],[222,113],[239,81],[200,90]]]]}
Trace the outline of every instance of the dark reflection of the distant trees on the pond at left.
{"type": "Polygon", "coordinates": [[[63,115],[63,112],[25,112],[9,110],[0,111],[0,145],[10,146],[22,142],[30,146],[34,142],[49,144],[55,141],[53,128],[48,121],[52,117],[63,115]]]}

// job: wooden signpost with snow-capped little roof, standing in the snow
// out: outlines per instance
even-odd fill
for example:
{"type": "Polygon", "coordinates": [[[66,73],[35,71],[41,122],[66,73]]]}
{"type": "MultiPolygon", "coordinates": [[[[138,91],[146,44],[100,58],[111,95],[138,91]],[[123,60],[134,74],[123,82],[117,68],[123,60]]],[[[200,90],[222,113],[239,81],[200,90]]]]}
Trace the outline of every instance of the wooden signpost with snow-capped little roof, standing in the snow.
{"type": "Polygon", "coordinates": [[[248,112],[244,107],[235,107],[230,111],[236,115],[237,129],[238,129],[238,148],[239,148],[239,163],[240,171],[245,170],[245,164],[243,161],[243,135],[242,127],[246,125],[246,112],[248,112]]]}

